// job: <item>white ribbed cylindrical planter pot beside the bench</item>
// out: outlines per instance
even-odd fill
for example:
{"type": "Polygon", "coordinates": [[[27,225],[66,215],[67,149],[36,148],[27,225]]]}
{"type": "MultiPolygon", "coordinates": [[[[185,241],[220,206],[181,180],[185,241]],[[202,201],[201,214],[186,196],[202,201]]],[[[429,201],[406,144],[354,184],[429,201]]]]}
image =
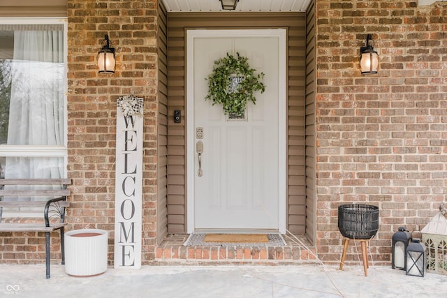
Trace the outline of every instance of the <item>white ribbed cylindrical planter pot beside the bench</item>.
{"type": "Polygon", "coordinates": [[[73,276],[92,276],[107,270],[105,230],[73,230],[64,234],[65,271],[73,276]]]}

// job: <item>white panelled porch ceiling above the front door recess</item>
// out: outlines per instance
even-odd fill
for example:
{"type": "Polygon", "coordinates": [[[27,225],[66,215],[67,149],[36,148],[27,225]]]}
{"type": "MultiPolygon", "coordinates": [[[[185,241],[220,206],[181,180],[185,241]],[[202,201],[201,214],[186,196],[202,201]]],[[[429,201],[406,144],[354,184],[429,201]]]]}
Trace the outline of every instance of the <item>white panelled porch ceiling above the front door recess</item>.
{"type": "Polygon", "coordinates": [[[305,11],[311,0],[240,0],[235,10],[222,10],[219,0],[162,0],[168,12],[305,11]]]}

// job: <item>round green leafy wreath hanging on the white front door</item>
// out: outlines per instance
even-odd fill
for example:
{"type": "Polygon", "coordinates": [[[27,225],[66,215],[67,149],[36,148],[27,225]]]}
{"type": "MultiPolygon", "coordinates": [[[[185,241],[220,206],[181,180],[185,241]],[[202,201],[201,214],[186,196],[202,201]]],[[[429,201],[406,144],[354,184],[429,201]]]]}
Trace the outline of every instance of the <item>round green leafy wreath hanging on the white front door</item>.
{"type": "Polygon", "coordinates": [[[260,80],[263,73],[255,74],[256,69],[250,68],[248,58],[236,53],[236,57],[226,54],[226,57],[214,61],[212,73],[208,76],[208,94],[205,100],[212,100],[212,105],[220,103],[224,114],[242,115],[247,100],[256,104],[255,91],[265,91],[260,80]],[[235,80],[237,82],[235,82],[235,80]]]}

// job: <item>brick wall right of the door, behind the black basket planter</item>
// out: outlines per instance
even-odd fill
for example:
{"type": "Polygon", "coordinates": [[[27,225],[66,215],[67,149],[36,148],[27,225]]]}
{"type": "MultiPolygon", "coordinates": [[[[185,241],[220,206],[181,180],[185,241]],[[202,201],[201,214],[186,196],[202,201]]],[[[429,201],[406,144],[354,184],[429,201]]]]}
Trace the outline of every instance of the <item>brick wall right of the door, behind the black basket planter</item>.
{"type": "Polygon", "coordinates": [[[447,3],[318,0],[316,9],[318,255],[339,262],[337,207],[361,202],[380,208],[370,252],[389,264],[397,228],[422,229],[447,198],[447,3]],[[379,73],[362,76],[367,33],[379,73]]]}

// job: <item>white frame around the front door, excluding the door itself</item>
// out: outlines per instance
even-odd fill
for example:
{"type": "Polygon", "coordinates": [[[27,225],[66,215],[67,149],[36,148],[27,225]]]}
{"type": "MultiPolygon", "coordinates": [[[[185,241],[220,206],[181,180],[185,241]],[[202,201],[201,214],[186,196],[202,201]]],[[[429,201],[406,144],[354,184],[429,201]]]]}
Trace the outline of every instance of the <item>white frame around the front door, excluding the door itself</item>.
{"type": "Polygon", "coordinates": [[[186,232],[194,232],[194,94],[193,46],[195,38],[219,37],[278,37],[279,38],[279,232],[286,233],[286,110],[287,68],[286,29],[188,29],[186,30],[186,232]]]}

